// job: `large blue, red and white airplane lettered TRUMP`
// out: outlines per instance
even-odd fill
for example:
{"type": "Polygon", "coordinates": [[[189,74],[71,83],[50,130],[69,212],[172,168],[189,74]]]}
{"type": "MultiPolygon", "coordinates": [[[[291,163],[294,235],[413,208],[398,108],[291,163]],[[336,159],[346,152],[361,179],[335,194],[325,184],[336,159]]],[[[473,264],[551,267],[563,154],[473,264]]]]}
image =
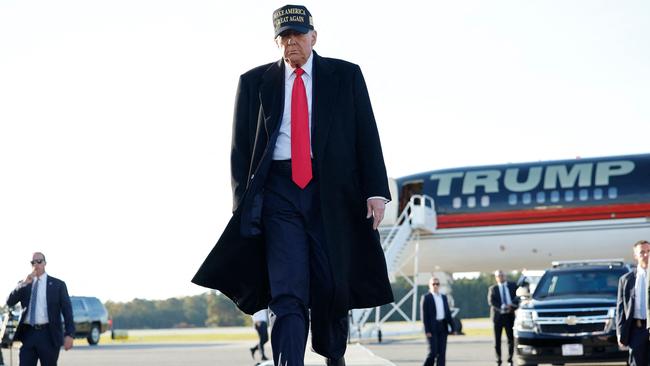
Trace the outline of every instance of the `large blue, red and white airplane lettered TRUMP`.
{"type": "Polygon", "coordinates": [[[650,240],[650,154],[435,170],[389,185],[384,238],[416,195],[433,199],[437,222],[405,244],[412,257],[417,242],[417,260],[401,256],[404,273],[631,262],[633,244],[650,240]]]}

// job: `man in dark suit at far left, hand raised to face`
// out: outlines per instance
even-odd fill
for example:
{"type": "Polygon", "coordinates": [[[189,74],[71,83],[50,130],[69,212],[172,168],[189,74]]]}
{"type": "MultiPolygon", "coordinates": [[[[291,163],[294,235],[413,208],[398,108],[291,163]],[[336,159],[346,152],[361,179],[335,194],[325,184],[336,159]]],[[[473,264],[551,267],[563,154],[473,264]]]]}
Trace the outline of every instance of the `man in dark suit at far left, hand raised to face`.
{"type": "Polygon", "coordinates": [[[45,273],[45,255],[32,255],[33,271],[9,295],[7,305],[23,309],[14,340],[22,342],[20,365],[56,366],[61,346],[72,348],[74,320],[65,282],[45,273]],[[63,315],[64,326],[61,324],[63,315]]]}

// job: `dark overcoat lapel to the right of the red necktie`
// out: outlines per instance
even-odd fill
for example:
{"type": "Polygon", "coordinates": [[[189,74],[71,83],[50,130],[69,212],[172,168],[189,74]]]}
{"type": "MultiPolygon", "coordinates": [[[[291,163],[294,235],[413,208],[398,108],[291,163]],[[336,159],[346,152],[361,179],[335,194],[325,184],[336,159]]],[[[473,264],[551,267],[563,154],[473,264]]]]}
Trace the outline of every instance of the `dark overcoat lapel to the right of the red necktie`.
{"type": "Polygon", "coordinates": [[[332,106],[339,88],[338,75],[331,66],[314,52],[312,94],[312,151],[314,158],[319,161],[325,149],[331,120],[332,106]]]}

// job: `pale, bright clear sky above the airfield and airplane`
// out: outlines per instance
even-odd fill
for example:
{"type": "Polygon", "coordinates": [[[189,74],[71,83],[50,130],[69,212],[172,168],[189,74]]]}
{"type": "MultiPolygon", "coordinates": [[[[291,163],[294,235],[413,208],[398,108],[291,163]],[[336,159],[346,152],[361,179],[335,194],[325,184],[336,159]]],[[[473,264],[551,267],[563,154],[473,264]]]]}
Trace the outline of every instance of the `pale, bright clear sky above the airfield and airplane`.
{"type": "MultiPolygon", "coordinates": [[[[361,65],[390,176],[649,150],[648,1],[304,4],[361,65]]],[[[72,294],[204,291],[237,79],[279,58],[282,5],[0,2],[0,298],[34,250],[72,294]]]]}

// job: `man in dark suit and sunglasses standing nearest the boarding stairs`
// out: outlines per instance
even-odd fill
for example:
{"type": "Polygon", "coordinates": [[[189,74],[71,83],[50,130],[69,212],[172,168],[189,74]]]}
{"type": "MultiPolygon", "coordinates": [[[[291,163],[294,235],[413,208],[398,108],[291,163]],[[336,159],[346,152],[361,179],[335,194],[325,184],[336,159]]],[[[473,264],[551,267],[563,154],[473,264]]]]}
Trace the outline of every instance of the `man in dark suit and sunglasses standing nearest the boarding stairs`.
{"type": "Polygon", "coordinates": [[[429,355],[424,366],[445,366],[447,351],[447,335],[453,331],[453,321],[447,295],[440,293],[440,280],[432,277],[429,280],[429,293],[422,296],[422,322],[424,332],[429,342],[429,355]]]}

